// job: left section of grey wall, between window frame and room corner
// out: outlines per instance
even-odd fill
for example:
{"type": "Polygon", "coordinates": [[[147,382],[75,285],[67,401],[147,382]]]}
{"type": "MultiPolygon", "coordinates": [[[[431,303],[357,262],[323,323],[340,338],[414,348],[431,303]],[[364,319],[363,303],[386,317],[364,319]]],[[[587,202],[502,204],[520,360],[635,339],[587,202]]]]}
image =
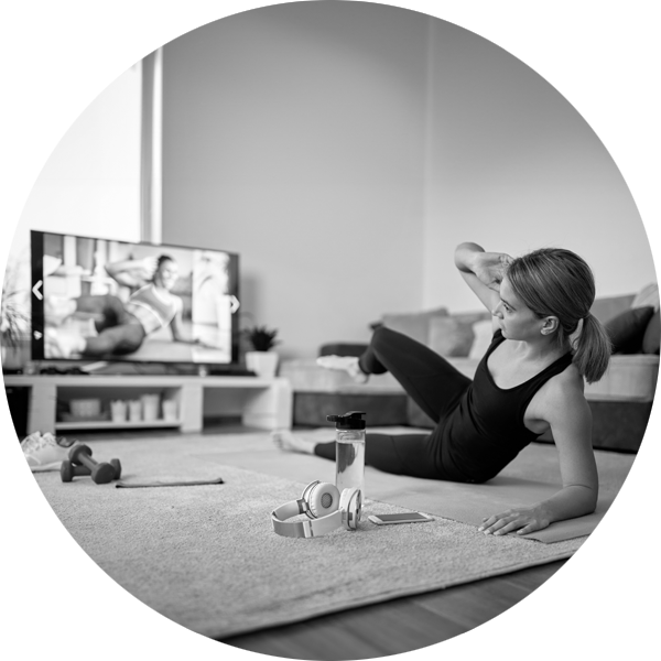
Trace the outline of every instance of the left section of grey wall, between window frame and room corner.
{"type": "Polygon", "coordinates": [[[163,242],[239,252],[285,356],[422,304],[427,10],[164,3],[163,242]]]}

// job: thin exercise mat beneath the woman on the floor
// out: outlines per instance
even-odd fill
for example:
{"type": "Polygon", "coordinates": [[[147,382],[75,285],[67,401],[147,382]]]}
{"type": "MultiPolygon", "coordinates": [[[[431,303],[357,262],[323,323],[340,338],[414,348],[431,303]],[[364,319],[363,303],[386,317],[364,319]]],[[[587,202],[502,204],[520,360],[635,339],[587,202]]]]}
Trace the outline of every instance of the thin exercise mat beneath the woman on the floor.
{"type": "MultiPolygon", "coordinates": [[[[327,430],[296,433],[302,436],[307,434],[317,438],[328,437],[327,430]]],[[[610,454],[610,464],[615,464],[616,468],[617,464],[620,465],[618,484],[629,479],[633,485],[638,476],[635,470],[628,468],[631,462],[627,462],[625,455],[597,452],[597,456],[602,456],[602,460],[604,460],[606,454],[610,454]],[[618,457],[620,457],[619,462],[618,457]]],[[[379,501],[479,527],[485,517],[505,511],[511,507],[532,505],[555,494],[562,486],[557,466],[553,472],[556,481],[553,483],[548,479],[527,479],[520,475],[529,473],[534,476],[539,474],[542,464],[546,468],[553,469],[552,465],[549,466],[549,457],[555,457],[556,459],[556,449],[552,445],[534,444],[529,446],[502,474],[484,485],[466,485],[389,475],[367,467],[366,495],[379,501]],[[539,458],[539,455],[545,455],[543,460],[539,458]]],[[[661,481],[660,459],[655,457],[635,458],[647,462],[649,466],[655,466],[657,479],[661,481]]],[[[310,479],[310,481],[313,479],[335,481],[333,462],[315,456],[284,453],[277,448],[270,452],[268,449],[262,452],[238,452],[231,456],[224,455],[223,460],[291,479],[305,476],[304,478],[310,479]]],[[[613,480],[613,475],[610,479],[613,480]]],[[[609,490],[607,486],[602,485],[597,509],[594,513],[576,519],[556,521],[544,530],[518,537],[553,543],[655,519],[661,519],[661,494],[658,500],[652,500],[626,496],[609,490]]]]}

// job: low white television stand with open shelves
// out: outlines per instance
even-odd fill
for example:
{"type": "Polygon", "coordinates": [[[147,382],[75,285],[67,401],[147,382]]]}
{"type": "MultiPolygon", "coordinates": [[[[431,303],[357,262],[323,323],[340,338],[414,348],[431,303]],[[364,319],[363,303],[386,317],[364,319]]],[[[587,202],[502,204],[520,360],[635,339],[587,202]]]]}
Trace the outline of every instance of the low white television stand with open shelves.
{"type": "Polygon", "coordinates": [[[53,434],[64,431],[174,427],[182,432],[199,432],[204,424],[204,391],[223,389],[242,399],[241,420],[246,426],[263,430],[289,429],[292,424],[293,395],[288,379],[259,377],[197,377],[144,375],[39,375],[2,376],[0,386],[30,388],[28,433],[53,434]],[[108,416],[63,420],[58,408],[74,399],[100,399],[108,410],[112,400],[139,399],[159,394],[177,402],[177,415],[165,420],[159,411],[155,420],[113,422],[108,416]]]}

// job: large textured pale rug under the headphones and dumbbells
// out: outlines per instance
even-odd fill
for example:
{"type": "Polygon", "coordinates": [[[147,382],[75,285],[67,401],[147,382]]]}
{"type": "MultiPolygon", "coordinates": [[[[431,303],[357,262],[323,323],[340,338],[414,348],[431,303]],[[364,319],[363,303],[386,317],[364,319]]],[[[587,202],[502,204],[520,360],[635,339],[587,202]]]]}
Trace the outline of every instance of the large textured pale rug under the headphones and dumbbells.
{"type": "MultiPolygon", "coordinates": [[[[271,452],[263,433],[89,445],[99,460],[121,460],[127,484],[224,484],[116,488],[0,469],[3,631],[218,639],[661,535],[650,521],[541,544],[436,517],[390,527],[364,518],[355,532],[281,538],[270,512],[297,498],[307,477],[221,460],[238,448],[271,452]]],[[[402,509],[368,500],[365,516],[402,509]]]]}

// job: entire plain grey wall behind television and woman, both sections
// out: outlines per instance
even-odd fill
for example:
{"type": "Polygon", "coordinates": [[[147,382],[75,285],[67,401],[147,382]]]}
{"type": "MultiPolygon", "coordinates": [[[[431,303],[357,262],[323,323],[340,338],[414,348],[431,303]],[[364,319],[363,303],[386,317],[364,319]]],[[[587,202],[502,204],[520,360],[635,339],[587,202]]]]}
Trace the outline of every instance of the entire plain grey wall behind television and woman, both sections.
{"type": "Polygon", "coordinates": [[[463,240],[661,280],[655,0],[165,2],[163,241],[236,250],[281,349],[477,302],[463,240]]]}

